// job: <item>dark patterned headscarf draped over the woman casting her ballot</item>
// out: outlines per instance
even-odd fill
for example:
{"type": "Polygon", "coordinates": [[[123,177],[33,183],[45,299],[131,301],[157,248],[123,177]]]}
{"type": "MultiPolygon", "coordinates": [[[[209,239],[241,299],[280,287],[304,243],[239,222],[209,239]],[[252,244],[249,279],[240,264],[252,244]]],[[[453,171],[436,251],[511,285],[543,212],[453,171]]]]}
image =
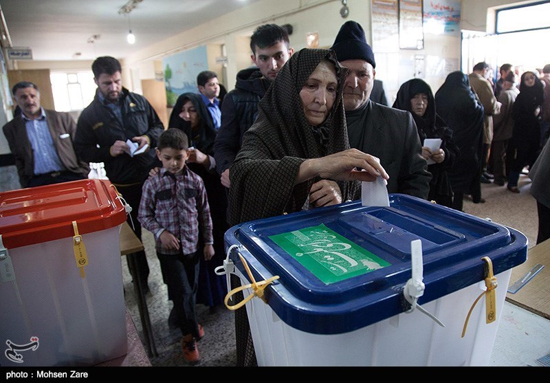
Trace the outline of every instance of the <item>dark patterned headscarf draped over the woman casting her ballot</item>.
{"type": "MultiPolygon", "coordinates": [[[[259,102],[259,116],[243,135],[230,168],[230,224],[300,210],[318,177],[294,186],[302,162],[349,149],[342,85],[344,68],[330,50],[303,49],[289,58],[259,102]],[[336,100],[325,122],[307,121],[300,90],[319,63],[336,67],[336,100]],[[322,132],[322,133],[320,133],[322,132]]],[[[355,198],[356,182],[338,182],[342,199],[355,198]]]]}

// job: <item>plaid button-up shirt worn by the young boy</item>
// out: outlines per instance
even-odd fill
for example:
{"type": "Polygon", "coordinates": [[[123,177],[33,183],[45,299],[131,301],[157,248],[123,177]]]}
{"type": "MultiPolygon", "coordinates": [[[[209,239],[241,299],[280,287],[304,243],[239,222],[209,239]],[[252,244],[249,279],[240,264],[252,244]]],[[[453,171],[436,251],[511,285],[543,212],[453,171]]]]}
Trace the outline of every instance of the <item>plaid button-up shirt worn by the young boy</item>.
{"type": "Polygon", "coordinates": [[[155,177],[145,181],[137,217],[144,228],[155,234],[155,248],[162,254],[179,254],[162,247],[159,237],[164,230],[179,238],[183,254],[197,252],[199,224],[204,243],[214,242],[203,180],[187,166],[178,175],[161,168],[155,177]]]}

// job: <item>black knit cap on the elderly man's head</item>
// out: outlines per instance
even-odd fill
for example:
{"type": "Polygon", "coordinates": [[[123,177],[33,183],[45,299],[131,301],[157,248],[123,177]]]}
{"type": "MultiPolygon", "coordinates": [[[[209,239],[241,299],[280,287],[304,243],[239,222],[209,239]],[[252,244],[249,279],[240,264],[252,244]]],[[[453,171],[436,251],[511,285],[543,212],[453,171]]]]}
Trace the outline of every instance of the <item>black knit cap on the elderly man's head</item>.
{"type": "Polygon", "coordinates": [[[331,50],[336,52],[340,62],[355,58],[370,63],[373,68],[376,67],[373,48],[366,43],[363,27],[355,21],[346,21],[340,27],[331,50]]]}

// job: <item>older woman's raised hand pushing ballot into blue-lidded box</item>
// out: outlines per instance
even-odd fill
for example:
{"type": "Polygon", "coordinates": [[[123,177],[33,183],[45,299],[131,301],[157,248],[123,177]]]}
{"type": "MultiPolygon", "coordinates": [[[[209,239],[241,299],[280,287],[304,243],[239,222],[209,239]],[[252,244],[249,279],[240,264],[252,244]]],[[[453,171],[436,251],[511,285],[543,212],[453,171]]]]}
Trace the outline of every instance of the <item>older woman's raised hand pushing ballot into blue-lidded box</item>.
{"type": "Polygon", "coordinates": [[[358,149],[347,149],[325,157],[305,160],[300,165],[294,184],[300,184],[316,175],[337,181],[374,181],[376,177],[390,177],[377,157],[358,149]]]}

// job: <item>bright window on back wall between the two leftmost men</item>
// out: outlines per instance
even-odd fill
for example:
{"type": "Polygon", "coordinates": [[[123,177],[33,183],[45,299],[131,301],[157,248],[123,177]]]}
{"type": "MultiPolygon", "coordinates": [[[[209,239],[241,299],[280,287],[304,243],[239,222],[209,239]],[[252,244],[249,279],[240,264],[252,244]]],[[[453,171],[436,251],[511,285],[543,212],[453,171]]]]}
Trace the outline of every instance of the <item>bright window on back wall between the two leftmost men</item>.
{"type": "Polygon", "coordinates": [[[56,111],[81,111],[94,100],[94,73],[54,72],[50,74],[56,111]]]}

